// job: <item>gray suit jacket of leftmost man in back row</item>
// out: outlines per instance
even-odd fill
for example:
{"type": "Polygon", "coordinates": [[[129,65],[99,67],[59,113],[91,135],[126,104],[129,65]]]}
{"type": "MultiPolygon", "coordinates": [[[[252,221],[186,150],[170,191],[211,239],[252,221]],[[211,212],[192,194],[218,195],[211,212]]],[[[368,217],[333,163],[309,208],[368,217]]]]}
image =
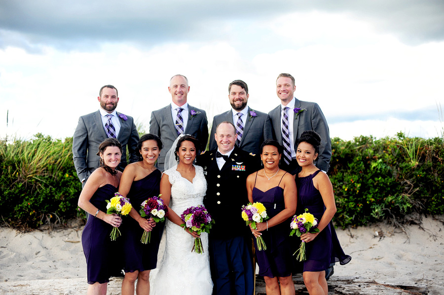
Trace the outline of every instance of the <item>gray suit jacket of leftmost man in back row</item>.
{"type": "MultiPolygon", "coordinates": [[[[117,116],[120,113],[117,112],[117,116]]],[[[137,162],[136,155],[137,143],[139,142],[139,133],[137,132],[134,120],[127,116],[128,120],[120,120],[120,131],[117,140],[122,144],[122,157],[117,169],[123,171],[126,162],[126,147],[129,152],[129,163],[137,162]]],[[[78,125],[73,137],[73,158],[75,170],[77,170],[78,179],[81,181],[88,178],[89,175],[100,166],[100,157],[97,156],[99,145],[108,138],[103,128],[100,112],[81,116],[78,119],[78,125]]]]}

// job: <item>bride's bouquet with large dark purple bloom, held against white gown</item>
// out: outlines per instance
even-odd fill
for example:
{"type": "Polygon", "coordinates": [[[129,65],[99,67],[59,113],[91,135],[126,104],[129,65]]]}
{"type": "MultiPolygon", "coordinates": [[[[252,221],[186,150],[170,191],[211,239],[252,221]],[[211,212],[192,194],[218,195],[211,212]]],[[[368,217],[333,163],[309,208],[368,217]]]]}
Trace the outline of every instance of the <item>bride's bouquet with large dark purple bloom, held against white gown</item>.
{"type": "MultiPolygon", "coordinates": [[[[197,234],[201,234],[202,232],[209,233],[212,225],[215,223],[203,205],[189,207],[184,213],[182,213],[181,218],[182,221],[185,222],[181,224],[181,227],[184,229],[188,228],[190,231],[195,231],[197,234]]],[[[194,246],[191,249],[191,252],[193,251],[197,254],[202,254],[204,252],[200,237],[194,239],[194,246]]]]}

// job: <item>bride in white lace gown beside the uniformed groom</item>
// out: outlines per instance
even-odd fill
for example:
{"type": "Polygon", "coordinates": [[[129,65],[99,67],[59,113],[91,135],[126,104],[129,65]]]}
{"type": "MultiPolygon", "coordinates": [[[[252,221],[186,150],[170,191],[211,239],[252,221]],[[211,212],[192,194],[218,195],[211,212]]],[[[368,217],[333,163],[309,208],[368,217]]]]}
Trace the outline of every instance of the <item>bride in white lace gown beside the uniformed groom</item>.
{"type": "Polygon", "coordinates": [[[210,295],[213,291],[208,234],[201,233],[204,253],[196,254],[191,249],[198,235],[180,227],[182,212],[202,205],[207,190],[202,167],[193,165],[197,144],[190,135],[180,137],[176,146],[179,164],[166,170],[160,181],[160,194],[170,210],[165,224],[165,252],[157,264],[157,274],[151,279],[151,295],[210,295]]]}

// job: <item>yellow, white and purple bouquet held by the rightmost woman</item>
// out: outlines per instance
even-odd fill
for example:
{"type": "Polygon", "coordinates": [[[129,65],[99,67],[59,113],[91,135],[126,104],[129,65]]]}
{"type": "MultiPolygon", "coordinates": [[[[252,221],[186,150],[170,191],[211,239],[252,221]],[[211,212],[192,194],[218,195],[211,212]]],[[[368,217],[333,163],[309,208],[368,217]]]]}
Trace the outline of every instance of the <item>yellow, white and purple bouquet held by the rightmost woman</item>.
{"type": "MultiPolygon", "coordinates": [[[[305,209],[305,213],[298,216],[293,216],[292,222],[290,223],[290,228],[292,229],[290,235],[292,236],[296,233],[296,236],[301,236],[301,234],[305,232],[316,233],[319,232],[319,229],[317,227],[318,219],[315,218],[313,214],[308,213],[308,209],[305,209]]],[[[299,249],[297,249],[293,255],[295,255],[297,252],[299,253],[296,256],[296,259],[299,261],[305,261],[306,256],[304,241],[300,243],[299,249]]]]}

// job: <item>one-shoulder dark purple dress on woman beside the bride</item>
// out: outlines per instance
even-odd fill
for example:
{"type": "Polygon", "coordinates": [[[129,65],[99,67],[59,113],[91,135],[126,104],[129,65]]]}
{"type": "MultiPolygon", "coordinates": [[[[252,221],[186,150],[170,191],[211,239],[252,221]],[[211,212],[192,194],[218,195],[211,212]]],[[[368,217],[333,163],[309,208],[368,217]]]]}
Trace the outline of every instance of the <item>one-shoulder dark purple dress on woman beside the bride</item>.
{"type": "MultiPolygon", "coordinates": [[[[150,197],[159,196],[161,175],[160,170],[156,169],[145,178],[133,181],[127,197],[137,212],[140,211],[143,201],[150,197]]],[[[124,222],[120,226],[120,232],[122,233],[123,240],[123,270],[125,272],[156,268],[157,252],[159,251],[160,238],[162,237],[164,226],[164,222],[156,224],[151,231],[150,242],[142,244],[140,240],[144,229],[131,216],[124,218],[124,222]]]]}

